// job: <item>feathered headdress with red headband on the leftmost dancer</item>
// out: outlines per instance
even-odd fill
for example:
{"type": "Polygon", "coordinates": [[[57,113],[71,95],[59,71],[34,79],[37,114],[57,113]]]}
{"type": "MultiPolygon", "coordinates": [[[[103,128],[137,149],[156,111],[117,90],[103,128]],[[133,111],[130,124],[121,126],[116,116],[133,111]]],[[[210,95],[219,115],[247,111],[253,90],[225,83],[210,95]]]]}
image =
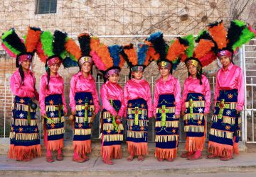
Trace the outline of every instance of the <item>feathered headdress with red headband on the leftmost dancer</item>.
{"type": "Polygon", "coordinates": [[[3,33],[1,37],[1,46],[11,57],[16,57],[16,67],[18,67],[27,59],[32,62],[33,54],[36,51],[40,35],[40,28],[28,27],[28,33],[26,34],[25,39],[22,40],[16,34],[14,28],[11,28],[3,33]]]}

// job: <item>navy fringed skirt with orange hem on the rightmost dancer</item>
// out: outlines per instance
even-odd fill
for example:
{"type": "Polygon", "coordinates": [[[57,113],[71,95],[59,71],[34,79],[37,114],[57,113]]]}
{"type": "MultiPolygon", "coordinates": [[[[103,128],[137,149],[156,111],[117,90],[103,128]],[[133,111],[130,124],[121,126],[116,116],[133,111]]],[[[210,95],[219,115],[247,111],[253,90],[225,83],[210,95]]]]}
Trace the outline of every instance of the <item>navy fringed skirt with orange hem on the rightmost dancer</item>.
{"type": "Polygon", "coordinates": [[[220,90],[215,104],[208,144],[208,152],[215,156],[232,157],[233,153],[239,152],[241,118],[236,113],[237,103],[237,89],[220,90]]]}

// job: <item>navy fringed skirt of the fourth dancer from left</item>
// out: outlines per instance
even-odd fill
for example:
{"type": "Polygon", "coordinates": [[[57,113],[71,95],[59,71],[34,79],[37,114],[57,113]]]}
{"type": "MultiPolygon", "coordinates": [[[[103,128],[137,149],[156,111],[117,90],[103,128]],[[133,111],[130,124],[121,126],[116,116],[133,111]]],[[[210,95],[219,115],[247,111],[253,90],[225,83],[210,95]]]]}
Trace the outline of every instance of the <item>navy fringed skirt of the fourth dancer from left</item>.
{"type": "MultiPolygon", "coordinates": [[[[118,113],[119,108],[121,108],[121,102],[119,100],[113,100],[110,102],[112,102],[112,106],[118,113]]],[[[102,118],[102,159],[121,159],[121,142],[124,139],[124,127],[122,123],[116,124],[114,117],[105,109],[102,110],[102,118]]]]}

